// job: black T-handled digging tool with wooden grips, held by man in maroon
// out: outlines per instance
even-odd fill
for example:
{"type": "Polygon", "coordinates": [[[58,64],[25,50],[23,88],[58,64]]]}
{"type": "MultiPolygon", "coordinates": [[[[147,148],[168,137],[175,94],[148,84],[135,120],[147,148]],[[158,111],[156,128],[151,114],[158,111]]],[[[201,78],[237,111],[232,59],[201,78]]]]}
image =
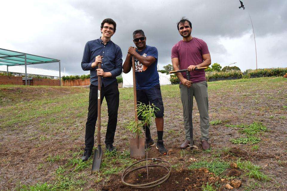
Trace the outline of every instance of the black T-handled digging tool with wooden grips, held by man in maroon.
{"type": "MultiPolygon", "coordinates": [[[[200,67],[196,68],[195,70],[200,70],[200,69],[206,69],[207,67],[200,67]]],[[[190,73],[188,72],[187,69],[185,70],[175,70],[175,71],[170,71],[170,74],[172,73],[179,73],[179,72],[186,72],[187,80],[189,81],[190,79],[190,73]]],[[[187,148],[190,148],[190,150],[193,150],[194,148],[197,148],[195,145],[193,145],[193,125],[192,125],[192,110],[191,110],[191,97],[190,97],[190,87],[188,88],[187,91],[187,96],[188,96],[188,118],[189,118],[189,132],[190,132],[190,146],[187,148]]]]}

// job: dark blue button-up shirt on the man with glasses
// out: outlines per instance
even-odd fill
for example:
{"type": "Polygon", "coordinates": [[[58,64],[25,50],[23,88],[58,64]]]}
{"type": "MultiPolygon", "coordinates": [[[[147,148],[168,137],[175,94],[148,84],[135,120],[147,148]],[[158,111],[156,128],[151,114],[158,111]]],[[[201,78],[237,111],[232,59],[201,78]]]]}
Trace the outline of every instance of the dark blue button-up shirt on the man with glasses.
{"type": "Polygon", "coordinates": [[[102,84],[104,84],[104,86],[108,86],[114,81],[117,81],[116,77],[122,73],[123,54],[120,47],[111,40],[106,44],[103,44],[103,41],[99,38],[86,43],[81,66],[83,70],[90,70],[90,83],[95,86],[98,85],[98,67],[96,66],[92,68],[91,65],[98,55],[103,56],[101,63],[103,71],[110,72],[112,74],[112,77],[102,77],[101,86],[102,84]]]}

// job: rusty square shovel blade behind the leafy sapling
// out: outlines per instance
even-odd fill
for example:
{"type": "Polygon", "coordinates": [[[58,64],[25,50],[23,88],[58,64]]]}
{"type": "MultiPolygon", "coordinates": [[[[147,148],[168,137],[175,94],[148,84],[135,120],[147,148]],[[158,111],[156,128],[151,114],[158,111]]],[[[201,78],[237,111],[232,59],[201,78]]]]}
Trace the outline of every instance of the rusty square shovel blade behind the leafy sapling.
{"type": "Polygon", "coordinates": [[[129,147],[131,150],[131,158],[141,160],[144,158],[144,138],[130,138],[129,147]]]}

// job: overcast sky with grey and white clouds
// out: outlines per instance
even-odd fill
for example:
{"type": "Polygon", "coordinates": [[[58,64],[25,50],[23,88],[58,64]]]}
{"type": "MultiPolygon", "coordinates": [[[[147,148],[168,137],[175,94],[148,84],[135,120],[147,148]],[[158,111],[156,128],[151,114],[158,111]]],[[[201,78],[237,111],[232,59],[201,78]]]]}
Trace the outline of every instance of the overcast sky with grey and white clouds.
{"type": "MultiPolygon", "coordinates": [[[[81,68],[87,41],[101,36],[100,23],[112,18],[117,29],[112,41],[123,61],[134,45],[132,32],[144,30],[146,44],[158,49],[158,64],[171,64],[171,48],[182,38],[176,23],[182,16],[192,22],[193,37],[203,39],[212,63],[238,66],[242,71],[287,67],[287,1],[1,1],[0,48],[61,60],[66,75],[85,74],[81,68]]],[[[30,67],[30,66],[29,66],[30,67]]],[[[56,63],[34,67],[59,70],[56,63]]]]}

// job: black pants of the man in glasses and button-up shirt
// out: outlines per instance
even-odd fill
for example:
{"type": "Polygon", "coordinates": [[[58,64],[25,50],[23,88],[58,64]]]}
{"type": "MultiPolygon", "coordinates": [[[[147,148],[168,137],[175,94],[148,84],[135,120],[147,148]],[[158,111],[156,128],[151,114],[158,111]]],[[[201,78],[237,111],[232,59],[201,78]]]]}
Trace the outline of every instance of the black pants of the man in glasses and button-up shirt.
{"type": "MultiPolygon", "coordinates": [[[[108,126],[106,132],[106,144],[113,144],[115,131],[117,127],[117,110],[119,109],[119,89],[117,81],[108,85],[107,87],[101,87],[101,104],[104,97],[107,101],[108,106],[108,126]]],[[[98,87],[90,85],[90,95],[89,95],[89,112],[88,119],[86,123],[86,134],[85,134],[85,149],[92,150],[94,147],[94,133],[95,125],[98,116],[98,87]]]]}

